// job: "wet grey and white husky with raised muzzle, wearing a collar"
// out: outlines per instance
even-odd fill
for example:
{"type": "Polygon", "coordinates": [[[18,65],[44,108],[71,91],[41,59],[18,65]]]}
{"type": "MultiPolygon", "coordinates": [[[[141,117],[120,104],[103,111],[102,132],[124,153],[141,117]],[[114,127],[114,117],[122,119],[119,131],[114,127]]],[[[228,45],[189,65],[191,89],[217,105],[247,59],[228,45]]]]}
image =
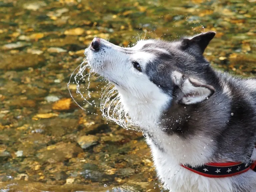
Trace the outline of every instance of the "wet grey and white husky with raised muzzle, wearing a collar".
{"type": "Polygon", "coordinates": [[[118,90],[170,192],[256,192],[256,79],[213,69],[209,31],[130,48],[94,38],[91,69],[118,90]]]}

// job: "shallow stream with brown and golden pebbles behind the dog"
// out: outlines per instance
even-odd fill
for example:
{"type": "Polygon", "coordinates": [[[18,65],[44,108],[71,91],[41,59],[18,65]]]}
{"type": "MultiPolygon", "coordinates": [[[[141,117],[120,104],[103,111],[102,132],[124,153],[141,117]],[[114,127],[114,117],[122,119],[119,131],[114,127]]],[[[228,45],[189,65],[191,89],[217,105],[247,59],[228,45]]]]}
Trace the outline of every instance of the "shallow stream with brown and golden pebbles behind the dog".
{"type": "MultiPolygon", "coordinates": [[[[163,191],[143,135],[79,108],[71,73],[96,36],[128,47],[213,30],[212,66],[254,77],[255,11],[255,0],[0,0],[0,191],[163,191]]],[[[91,100],[104,85],[91,80],[91,100]]]]}

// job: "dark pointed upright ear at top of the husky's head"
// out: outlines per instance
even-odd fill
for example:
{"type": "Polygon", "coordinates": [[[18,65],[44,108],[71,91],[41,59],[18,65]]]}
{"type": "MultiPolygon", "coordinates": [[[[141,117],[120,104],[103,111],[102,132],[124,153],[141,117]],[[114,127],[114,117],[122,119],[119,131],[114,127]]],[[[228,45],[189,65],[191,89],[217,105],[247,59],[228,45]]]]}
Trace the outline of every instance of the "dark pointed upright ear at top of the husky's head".
{"type": "Polygon", "coordinates": [[[208,31],[206,33],[198,34],[192,38],[184,38],[181,41],[182,49],[187,49],[191,46],[197,45],[201,53],[203,54],[205,48],[207,47],[209,42],[213,39],[215,34],[216,33],[214,31],[208,31]]]}

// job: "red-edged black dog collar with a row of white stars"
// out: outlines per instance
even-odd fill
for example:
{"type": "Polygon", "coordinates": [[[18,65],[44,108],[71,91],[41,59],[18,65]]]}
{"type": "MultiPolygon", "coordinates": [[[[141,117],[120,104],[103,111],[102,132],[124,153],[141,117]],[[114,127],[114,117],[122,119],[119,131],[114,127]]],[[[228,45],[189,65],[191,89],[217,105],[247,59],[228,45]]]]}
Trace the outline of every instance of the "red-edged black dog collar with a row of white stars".
{"type": "Polygon", "coordinates": [[[231,177],[248,171],[250,168],[256,171],[256,161],[251,163],[228,162],[228,163],[207,163],[198,167],[181,165],[182,167],[199,175],[211,178],[231,177]]]}

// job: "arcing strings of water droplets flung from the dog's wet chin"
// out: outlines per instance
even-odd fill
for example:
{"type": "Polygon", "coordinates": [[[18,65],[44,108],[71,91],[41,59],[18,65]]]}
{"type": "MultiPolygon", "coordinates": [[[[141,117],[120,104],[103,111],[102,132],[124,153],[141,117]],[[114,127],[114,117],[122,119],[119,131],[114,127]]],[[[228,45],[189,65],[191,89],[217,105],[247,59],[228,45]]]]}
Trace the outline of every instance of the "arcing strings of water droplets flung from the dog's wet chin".
{"type": "MultiPolygon", "coordinates": [[[[99,106],[95,103],[95,100],[93,100],[92,102],[89,101],[92,99],[90,83],[92,81],[92,77],[94,77],[95,75],[96,74],[90,68],[90,65],[87,63],[86,60],[84,60],[73,71],[67,84],[71,98],[81,109],[86,110],[85,107],[78,104],[70,91],[71,79],[73,77],[74,81],[72,83],[76,84],[76,94],[89,105],[94,105],[94,107],[100,107],[100,111],[104,118],[106,118],[108,121],[115,122],[116,124],[127,130],[139,130],[139,126],[129,117],[127,112],[125,112],[123,105],[120,102],[120,96],[118,95],[118,91],[113,84],[107,83],[107,85],[104,85],[103,88],[101,88],[101,98],[99,106]]],[[[106,83],[106,81],[102,81],[102,83],[106,83]]],[[[96,88],[99,87],[97,86],[96,88]]]]}

